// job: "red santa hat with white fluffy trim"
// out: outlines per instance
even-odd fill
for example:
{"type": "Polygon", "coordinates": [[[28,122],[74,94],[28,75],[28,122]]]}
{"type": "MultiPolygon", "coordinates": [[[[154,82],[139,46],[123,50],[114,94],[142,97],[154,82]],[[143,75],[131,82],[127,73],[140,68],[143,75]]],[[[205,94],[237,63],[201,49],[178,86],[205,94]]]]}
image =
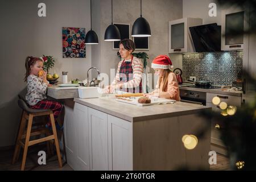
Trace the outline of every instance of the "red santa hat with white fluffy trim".
{"type": "Polygon", "coordinates": [[[157,56],[151,64],[151,68],[155,69],[171,69],[174,66],[172,65],[171,59],[166,55],[157,56]]]}

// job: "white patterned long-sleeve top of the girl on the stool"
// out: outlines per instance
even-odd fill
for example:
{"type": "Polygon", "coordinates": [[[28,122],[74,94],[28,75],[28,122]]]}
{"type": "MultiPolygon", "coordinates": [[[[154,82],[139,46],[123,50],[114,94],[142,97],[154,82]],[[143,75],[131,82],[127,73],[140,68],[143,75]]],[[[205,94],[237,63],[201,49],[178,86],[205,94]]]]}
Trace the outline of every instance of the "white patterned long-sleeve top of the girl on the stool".
{"type": "Polygon", "coordinates": [[[29,75],[27,77],[27,103],[34,106],[39,101],[46,99],[47,86],[48,84],[43,82],[42,78],[35,75],[29,75]]]}

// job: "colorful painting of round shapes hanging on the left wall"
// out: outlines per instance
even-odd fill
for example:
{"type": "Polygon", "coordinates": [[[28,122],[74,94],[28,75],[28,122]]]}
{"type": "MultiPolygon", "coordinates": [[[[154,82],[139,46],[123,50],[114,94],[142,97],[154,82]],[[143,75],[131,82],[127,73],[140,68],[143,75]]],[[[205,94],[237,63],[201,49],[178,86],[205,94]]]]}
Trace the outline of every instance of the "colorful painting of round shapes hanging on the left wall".
{"type": "Polygon", "coordinates": [[[63,57],[84,58],[85,51],[85,28],[62,28],[63,57]]]}

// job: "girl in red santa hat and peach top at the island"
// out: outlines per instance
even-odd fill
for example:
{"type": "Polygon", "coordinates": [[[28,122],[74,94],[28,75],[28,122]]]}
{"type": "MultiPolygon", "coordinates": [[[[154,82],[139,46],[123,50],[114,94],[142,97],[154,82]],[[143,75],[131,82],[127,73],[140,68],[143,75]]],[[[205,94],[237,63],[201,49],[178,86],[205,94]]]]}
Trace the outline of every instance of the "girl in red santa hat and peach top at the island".
{"type": "Polygon", "coordinates": [[[159,76],[156,89],[148,94],[147,97],[162,97],[180,101],[180,91],[175,73],[171,72],[171,59],[166,55],[157,56],[151,64],[155,73],[159,76]]]}

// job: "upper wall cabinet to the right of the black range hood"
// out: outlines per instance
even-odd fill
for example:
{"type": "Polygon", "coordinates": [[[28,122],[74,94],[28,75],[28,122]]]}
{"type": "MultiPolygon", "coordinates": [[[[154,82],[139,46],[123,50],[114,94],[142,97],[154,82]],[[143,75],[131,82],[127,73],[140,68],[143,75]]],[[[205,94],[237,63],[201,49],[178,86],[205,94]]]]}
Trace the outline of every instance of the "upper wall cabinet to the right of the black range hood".
{"type": "Polygon", "coordinates": [[[221,50],[243,49],[243,31],[247,28],[246,11],[226,9],[221,12],[221,50]]]}

